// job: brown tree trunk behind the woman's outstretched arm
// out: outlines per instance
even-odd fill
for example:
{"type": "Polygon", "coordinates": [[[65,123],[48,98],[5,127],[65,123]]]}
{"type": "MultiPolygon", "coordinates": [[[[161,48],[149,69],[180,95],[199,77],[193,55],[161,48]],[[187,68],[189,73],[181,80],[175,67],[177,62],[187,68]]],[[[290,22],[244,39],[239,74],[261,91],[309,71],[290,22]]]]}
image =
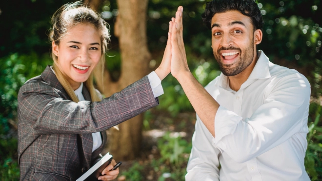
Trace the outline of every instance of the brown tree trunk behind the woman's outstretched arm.
{"type": "MultiPolygon", "coordinates": [[[[106,68],[103,69],[103,79],[100,71],[95,71],[98,88],[106,97],[146,76],[151,59],[146,37],[148,0],[117,0],[117,3],[119,15],[114,34],[120,43],[121,76],[118,82],[112,82],[106,68]]],[[[135,159],[141,146],[141,128],[142,115],[139,115],[121,123],[120,131],[110,129],[106,150],[117,160],[135,159]]]]}

